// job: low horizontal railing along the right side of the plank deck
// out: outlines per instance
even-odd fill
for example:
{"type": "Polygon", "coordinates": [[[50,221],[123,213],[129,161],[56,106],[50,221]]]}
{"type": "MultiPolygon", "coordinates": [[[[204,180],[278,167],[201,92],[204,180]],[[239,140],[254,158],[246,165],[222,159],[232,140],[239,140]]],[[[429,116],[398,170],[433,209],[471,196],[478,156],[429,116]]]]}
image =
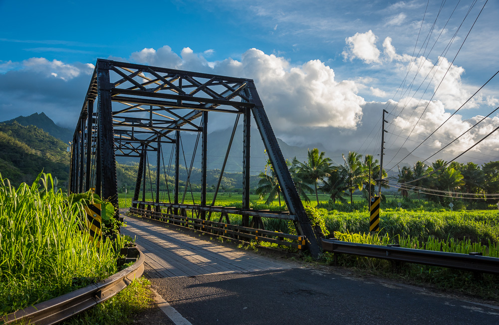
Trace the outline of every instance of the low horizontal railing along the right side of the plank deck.
{"type": "Polygon", "coordinates": [[[306,243],[305,236],[291,235],[283,232],[243,227],[240,225],[190,218],[182,215],[156,212],[134,207],[129,209],[129,213],[140,217],[168,222],[169,224],[173,224],[177,227],[188,228],[190,230],[211,233],[222,237],[233,236],[232,239],[236,238],[239,240],[244,240],[243,238],[254,239],[257,241],[297,248],[300,251],[305,248],[306,243]],[[284,239],[288,239],[288,241],[284,239]]]}

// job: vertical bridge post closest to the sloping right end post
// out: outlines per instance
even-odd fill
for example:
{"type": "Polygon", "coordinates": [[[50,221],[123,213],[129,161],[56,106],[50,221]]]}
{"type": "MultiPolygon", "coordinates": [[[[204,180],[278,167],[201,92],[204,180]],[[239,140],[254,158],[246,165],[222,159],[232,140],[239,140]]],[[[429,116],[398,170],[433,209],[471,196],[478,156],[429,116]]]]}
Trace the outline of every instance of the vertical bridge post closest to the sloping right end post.
{"type": "MultiPolygon", "coordinates": [[[[246,109],[243,117],[243,210],[250,209],[250,132],[251,110],[246,109]]],[[[250,216],[243,216],[243,227],[250,226],[250,216]]]]}

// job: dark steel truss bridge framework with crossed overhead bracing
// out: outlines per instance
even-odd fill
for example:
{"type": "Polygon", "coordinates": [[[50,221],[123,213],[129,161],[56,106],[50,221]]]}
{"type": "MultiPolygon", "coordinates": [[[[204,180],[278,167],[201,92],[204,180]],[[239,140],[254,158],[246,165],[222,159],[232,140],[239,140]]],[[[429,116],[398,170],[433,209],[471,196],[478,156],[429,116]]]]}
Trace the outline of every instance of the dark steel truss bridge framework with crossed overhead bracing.
{"type": "MultiPolygon", "coordinates": [[[[306,238],[305,246],[312,256],[321,253],[320,230],[313,229],[293,183],[284,157],[272,131],[263,104],[251,79],[181,71],[161,67],[98,59],[83,102],[71,145],[69,191],[78,193],[94,188],[101,197],[118,206],[116,157],[139,160],[132,208],[135,211],[163,213],[168,217],[187,217],[209,221],[212,212],[222,211],[219,222],[230,214],[242,216],[242,229],[263,228],[261,218],[292,220],[298,235],[306,238]],[[96,107],[95,107],[96,106],[96,107]],[[235,116],[233,132],[222,164],[215,198],[207,202],[208,116],[235,116]],[[212,115],[213,113],[210,113],[212,115]],[[240,118],[243,125],[243,193],[242,207],[216,207],[224,169],[240,118]],[[269,161],[277,177],[289,212],[271,213],[250,208],[250,130],[251,116],[263,141],[269,161]],[[190,185],[189,177],[195,161],[181,161],[182,134],[197,134],[196,147],[201,146],[201,199],[199,203],[183,204],[190,185]],[[161,174],[165,148],[171,146],[174,186],[161,174]],[[149,157],[155,155],[155,184],[150,182],[152,201],[146,201],[146,178],[149,157]],[[181,163],[190,165],[187,181],[180,186],[181,163]],[[168,201],[160,200],[163,176],[168,201]],[[142,192],[142,197],[140,194],[142,192]],[[179,197],[180,193],[184,193],[179,197]],[[155,198],[155,199],[154,199],[155,198]]],[[[198,160],[199,163],[199,160],[198,160]]],[[[168,166],[169,168],[169,166],[168,166]]],[[[150,173],[149,173],[150,176],[150,173]]],[[[164,191],[163,191],[164,192],[164,191]]],[[[116,217],[119,217],[117,212],[116,217]]],[[[200,222],[202,223],[202,222],[200,222]]],[[[301,237],[302,238],[302,237],[301,237]]]]}

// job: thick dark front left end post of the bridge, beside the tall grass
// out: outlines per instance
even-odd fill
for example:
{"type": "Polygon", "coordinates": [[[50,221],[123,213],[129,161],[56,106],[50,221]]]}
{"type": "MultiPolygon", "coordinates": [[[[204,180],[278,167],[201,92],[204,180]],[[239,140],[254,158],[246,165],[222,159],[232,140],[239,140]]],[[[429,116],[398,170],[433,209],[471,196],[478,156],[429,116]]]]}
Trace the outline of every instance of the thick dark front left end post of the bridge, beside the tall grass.
{"type": "Polygon", "coordinates": [[[102,178],[102,197],[116,208],[115,217],[119,219],[118,183],[116,180],[116,156],[114,152],[113,112],[111,102],[111,82],[109,60],[97,60],[97,88],[99,101],[99,143],[100,174],[102,178]]]}

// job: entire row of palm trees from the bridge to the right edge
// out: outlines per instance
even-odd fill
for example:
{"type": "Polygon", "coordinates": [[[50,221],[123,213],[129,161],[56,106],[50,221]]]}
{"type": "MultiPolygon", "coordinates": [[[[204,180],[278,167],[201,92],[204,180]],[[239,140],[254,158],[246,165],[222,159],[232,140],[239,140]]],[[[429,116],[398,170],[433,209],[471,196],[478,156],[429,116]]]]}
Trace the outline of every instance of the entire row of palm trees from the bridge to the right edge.
{"type": "MultiPolygon", "coordinates": [[[[360,190],[365,198],[374,196],[380,184],[380,165],[371,155],[362,155],[349,152],[342,155],[343,164],[334,165],[324,152],[317,148],[308,150],[307,160],[299,162],[296,157],[288,163],[288,168],[294,180],[298,193],[305,201],[310,201],[309,194],[315,194],[319,203],[318,192],[327,193],[332,202],[339,200],[346,202],[350,197],[353,203],[353,193],[360,190]]],[[[267,197],[266,204],[274,199],[281,204],[281,190],[277,177],[270,162],[265,166],[265,171],[260,172],[260,180],[256,194],[260,198],[267,197]]],[[[408,197],[410,192],[421,194],[425,198],[443,202],[445,197],[460,196],[459,193],[476,194],[477,198],[485,198],[484,194],[499,193],[499,161],[484,163],[482,167],[476,163],[447,163],[437,160],[431,165],[421,161],[413,167],[399,168],[398,177],[393,177],[399,184],[398,191],[408,197]]],[[[383,169],[381,186],[388,187],[389,178],[383,169]]],[[[469,197],[469,195],[468,195],[469,197]]],[[[489,196],[489,199],[492,199],[489,196]]]]}

